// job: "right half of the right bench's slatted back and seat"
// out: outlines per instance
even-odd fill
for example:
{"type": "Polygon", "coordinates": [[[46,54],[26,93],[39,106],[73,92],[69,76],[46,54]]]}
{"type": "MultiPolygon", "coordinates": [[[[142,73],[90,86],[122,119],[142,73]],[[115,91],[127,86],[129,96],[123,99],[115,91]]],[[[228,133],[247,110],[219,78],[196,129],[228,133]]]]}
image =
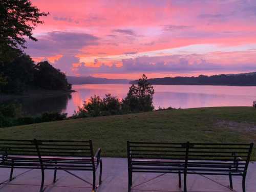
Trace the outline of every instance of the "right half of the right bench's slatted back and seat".
{"type": "Polygon", "coordinates": [[[245,172],[248,168],[253,143],[189,143],[188,169],[200,172],[245,172]],[[199,168],[198,168],[199,167],[199,168]]]}

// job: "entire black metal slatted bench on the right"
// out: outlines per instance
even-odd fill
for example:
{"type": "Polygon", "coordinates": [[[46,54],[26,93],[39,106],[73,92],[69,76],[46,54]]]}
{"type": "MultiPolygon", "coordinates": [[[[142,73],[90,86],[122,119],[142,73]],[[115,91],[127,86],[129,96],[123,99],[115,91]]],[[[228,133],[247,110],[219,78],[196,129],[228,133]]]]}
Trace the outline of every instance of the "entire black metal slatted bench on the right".
{"type": "Polygon", "coordinates": [[[181,188],[183,174],[184,192],[187,191],[187,175],[242,176],[245,178],[252,153],[250,144],[220,143],[157,143],[127,141],[129,192],[133,185],[133,173],[178,174],[181,188]]]}

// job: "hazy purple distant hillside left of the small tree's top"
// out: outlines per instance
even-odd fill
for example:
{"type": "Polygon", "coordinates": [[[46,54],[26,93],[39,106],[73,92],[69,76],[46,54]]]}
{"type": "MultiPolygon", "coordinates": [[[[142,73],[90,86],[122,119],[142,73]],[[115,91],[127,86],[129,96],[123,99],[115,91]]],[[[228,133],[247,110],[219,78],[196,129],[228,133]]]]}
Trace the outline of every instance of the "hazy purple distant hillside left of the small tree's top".
{"type": "Polygon", "coordinates": [[[106,79],[97,77],[74,77],[67,76],[68,82],[71,84],[106,84],[106,83],[129,83],[128,79],[106,79]]]}

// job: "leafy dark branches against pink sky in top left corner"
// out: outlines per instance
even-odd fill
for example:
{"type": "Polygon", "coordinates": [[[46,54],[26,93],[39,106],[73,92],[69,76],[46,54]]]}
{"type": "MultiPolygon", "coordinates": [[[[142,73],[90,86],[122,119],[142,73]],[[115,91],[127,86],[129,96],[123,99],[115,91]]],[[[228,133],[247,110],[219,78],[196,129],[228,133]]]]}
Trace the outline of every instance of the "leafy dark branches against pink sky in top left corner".
{"type": "Polygon", "coordinates": [[[36,41],[32,31],[44,23],[40,17],[48,14],[40,12],[29,0],[0,0],[0,58],[20,53],[20,47],[26,48],[25,37],[36,41]]]}

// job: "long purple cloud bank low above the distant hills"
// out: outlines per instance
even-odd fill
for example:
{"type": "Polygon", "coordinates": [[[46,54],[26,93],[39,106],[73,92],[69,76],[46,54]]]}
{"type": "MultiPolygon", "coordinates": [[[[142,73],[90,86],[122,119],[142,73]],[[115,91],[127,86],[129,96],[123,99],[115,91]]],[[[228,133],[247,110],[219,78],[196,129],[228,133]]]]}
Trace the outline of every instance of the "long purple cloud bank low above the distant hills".
{"type": "MultiPolygon", "coordinates": [[[[184,72],[195,72],[195,71],[230,71],[230,70],[256,70],[254,63],[248,63],[245,65],[232,65],[232,66],[223,66],[216,63],[210,63],[205,59],[194,59],[191,62],[191,58],[197,56],[200,58],[200,55],[191,54],[188,56],[183,55],[169,55],[169,56],[155,56],[148,57],[142,56],[137,58],[123,59],[122,67],[117,67],[115,62],[112,66],[107,66],[103,61],[100,61],[100,58],[95,59],[95,64],[100,63],[99,68],[92,68],[84,66],[82,63],[81,66],[76,68],[76,72],[83,76],[93,75],[95,73],[184,73],[184,72]]],[[[77,58],[76,58],[77,59],[77,58]]],[[[58,62],[61,63],[67,62],[66,58],[61,58],[58,62]]],[[[77,62],[78,59],[74,62],[77,62]]],[[[71,64],[70,64],[71,65],[71,64]]],[[[65,65],[66,66],[66,65],[65,65]]],[[[67,65],[69,66],[69,65],[67,65]]],[[[68,70],[67,70],[68,71],[68,70]]],[[[72,73],[68,73],[72,75],[72,73]]]]}

